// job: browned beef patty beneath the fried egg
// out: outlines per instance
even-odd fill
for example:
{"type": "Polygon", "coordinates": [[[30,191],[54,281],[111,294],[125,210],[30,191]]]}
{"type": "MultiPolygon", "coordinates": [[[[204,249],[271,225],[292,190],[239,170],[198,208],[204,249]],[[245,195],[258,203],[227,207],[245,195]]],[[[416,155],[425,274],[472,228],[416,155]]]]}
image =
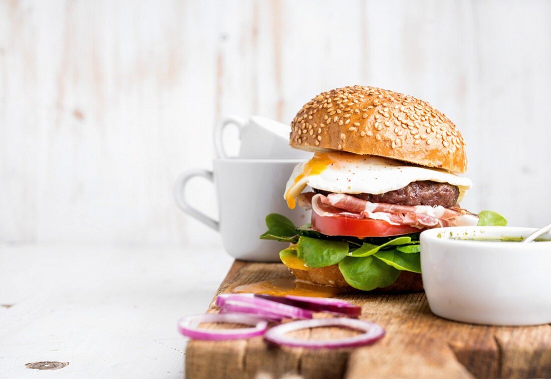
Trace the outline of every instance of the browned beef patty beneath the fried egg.
{"type": "MultiPolygon", "coordinates": [[[[319,194],[328,195],[328,191],[314,191],[319,194]]],[[[370,202],[386,202],[387,204],[401,205],[441,205],[445,208],[451,208],[457,204],[459,197],[459,188],[449,183],[437,183],[430,180],[412,182],[404,188],[390,191],[384,194],[349,194],[370,202]]]]}

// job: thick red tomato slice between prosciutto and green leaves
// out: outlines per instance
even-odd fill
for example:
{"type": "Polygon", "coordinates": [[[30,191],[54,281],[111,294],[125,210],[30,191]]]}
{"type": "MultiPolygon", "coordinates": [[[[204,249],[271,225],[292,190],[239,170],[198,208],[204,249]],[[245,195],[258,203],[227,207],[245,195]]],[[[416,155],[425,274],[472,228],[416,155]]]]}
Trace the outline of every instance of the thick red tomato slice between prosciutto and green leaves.
{"type": "Polygon", "coordinates": [[[386,237],[417,233],[421,229],[409,225],[392,225],[383,220],[371,218],[350,218],[345,216],[320,216],[312,212],[312,228],[325,235],[350,237],[386,237]]]}

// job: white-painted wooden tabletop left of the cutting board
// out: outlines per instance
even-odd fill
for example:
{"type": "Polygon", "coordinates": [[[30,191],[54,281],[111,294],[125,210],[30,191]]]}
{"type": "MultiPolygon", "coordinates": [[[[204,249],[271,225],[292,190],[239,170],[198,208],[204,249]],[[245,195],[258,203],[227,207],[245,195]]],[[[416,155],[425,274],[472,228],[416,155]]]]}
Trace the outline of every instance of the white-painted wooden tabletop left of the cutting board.
{"type": "Polygon", "coordinates": [[[184,315],[207,309],[220,250],[0,245],[0,378],[182,378],[184,315]],[[59,370],[25,364],[59,361],[59,370]]]}

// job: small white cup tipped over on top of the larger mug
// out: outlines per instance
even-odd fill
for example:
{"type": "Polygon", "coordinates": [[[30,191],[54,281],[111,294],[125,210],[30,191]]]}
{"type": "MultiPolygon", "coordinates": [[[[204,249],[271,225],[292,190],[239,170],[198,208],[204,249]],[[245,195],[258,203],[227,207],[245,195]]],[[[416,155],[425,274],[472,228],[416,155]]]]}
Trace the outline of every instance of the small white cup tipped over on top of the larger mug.
{"type": "Polygon", "coordinates": [[[229,158],[225,148],[224,130],[230,125],[239,129],[239,158],[305,160],[311,155],[289,146],[289,125],[260,116],[249,119],[230,116],[222,119],[214,128],[214,147],[218,158],[229,158]]]}

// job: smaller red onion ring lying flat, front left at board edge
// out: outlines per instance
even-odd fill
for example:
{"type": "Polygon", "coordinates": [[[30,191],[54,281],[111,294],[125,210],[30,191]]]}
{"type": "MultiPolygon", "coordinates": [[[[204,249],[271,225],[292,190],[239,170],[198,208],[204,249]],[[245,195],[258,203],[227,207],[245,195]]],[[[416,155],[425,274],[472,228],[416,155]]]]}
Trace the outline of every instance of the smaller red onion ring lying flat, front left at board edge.
{"type": "Polygon", "coordinates": [[[260,317],[241,314],[216,314],[195,315],[182,317],[178,322],[178,330],[186,337],[206,340],[224,340],[237,338],[250,338],[262,336],[266,333],[268,322],[260,317]],[[253,328],[241,329],[203,329],[199,328],[202,322],[229,322],[245,325],[253,325],[253,328]]]}

